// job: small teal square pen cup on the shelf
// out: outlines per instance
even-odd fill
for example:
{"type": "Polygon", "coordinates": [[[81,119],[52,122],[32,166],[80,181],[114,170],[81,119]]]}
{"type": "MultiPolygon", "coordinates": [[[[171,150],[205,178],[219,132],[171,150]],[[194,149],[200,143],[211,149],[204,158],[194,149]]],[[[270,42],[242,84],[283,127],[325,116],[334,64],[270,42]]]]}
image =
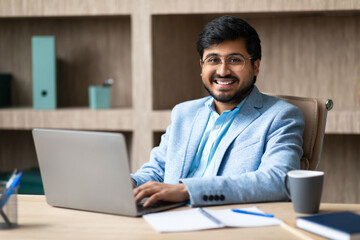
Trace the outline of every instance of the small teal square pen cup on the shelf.
{"type": "Polygon", "coordinates": [[[106,79],[102,86],[89,87],[89,105],[91,109],[109,109],[111,100],[111,86],[113,79],[106,79]]]}

